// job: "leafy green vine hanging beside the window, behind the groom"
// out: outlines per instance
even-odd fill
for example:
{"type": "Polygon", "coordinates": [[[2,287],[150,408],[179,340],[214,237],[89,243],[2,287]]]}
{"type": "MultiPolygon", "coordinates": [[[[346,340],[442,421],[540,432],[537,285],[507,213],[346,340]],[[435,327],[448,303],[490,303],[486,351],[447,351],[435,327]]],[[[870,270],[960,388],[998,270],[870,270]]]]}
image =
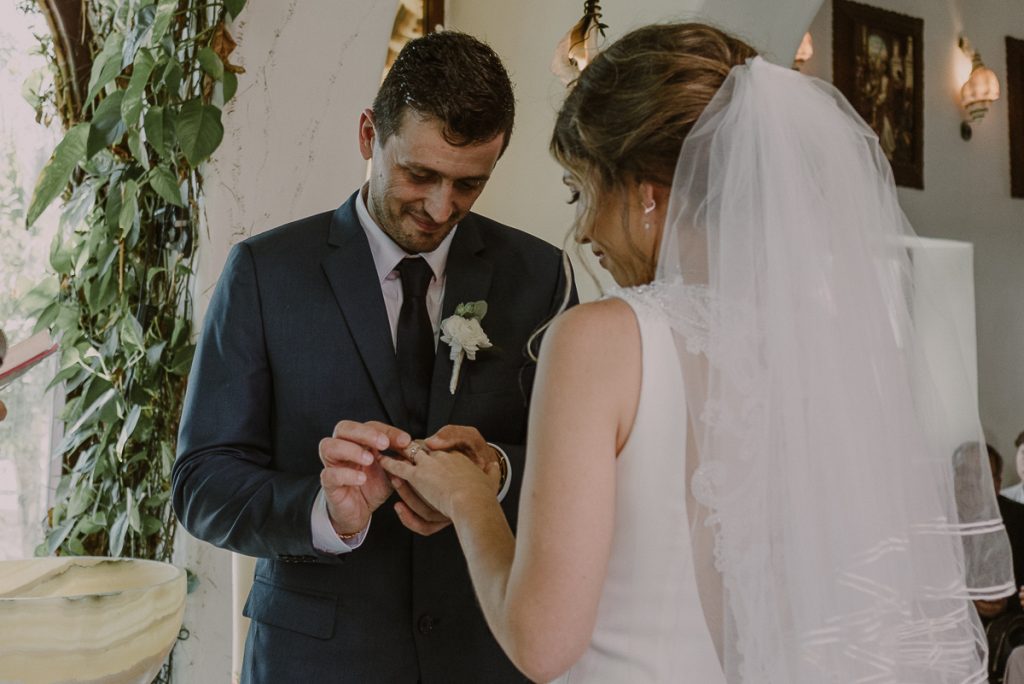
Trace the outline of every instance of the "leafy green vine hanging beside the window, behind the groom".
{"type": "MultiPolygon", "coordinates": [[[[200,169],[238,88],[225,22],[245,0],[81,2],[93,37],[88,90],[82,112],[61,115],[68,130],[26,217],[31,226],[66,200],[55,275],[30,295],[37,330],[59,337],[51,386],[66,394],[60,483],[37,553],[168,560],[195,350],[200,169]]],[[[74,76],[54,71],[59,91],[74,76]]]]}

